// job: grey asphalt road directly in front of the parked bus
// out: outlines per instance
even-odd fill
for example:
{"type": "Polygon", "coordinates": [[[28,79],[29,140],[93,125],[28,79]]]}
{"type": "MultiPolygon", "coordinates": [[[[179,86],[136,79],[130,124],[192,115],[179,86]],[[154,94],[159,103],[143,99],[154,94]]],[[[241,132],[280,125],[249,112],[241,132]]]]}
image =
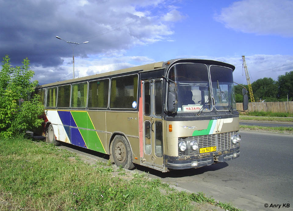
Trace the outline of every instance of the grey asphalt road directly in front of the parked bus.
{"type": "Polygon", "coordinates": [[[211,166],[160,173],[150,177],[193,192],[203,192],[221,202],[246,210],[293,209],[293,136],[241,131],[240,157],[211,166]],[[265,208],[265,204],[290,204],[265,208]],[[287,206],[287,205],[286,205],[287,206]]]}

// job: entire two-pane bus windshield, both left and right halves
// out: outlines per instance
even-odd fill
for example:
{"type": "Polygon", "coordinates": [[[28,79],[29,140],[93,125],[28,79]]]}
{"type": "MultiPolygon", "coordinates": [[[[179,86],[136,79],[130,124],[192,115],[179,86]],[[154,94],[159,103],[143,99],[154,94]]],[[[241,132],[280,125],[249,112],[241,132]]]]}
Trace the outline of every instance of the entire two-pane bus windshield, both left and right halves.
{"type": "Polygon", "coordinates": [[[211,111],[213,96],[216,110],[233,113],[236,102],[232,69],[211,65],[212,88],[208,71],[207,65],[196,63],[181,63],[170,68],[168,78],[177,84],[177,112],[211,111]]]}

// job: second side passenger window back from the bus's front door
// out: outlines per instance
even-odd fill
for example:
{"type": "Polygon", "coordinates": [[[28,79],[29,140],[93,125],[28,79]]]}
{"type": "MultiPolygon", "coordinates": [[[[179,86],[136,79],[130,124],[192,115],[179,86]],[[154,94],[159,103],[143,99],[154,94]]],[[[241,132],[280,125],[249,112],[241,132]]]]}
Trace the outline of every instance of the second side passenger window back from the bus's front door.
{"type": "Polygon", "coordinates": [[[89,108],[107,108],[109,79],[89,82],[89,108]]]}

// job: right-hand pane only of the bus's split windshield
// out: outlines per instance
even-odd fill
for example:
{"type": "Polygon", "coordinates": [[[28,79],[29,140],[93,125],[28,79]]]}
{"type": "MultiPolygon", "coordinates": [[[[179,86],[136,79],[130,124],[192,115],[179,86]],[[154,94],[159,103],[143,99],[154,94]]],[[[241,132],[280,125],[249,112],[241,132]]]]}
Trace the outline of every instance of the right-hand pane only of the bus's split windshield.
{"type": "Polygon", "coordinates": [[[217,110],[236,110],[233,71],[230,68],[210,67],[215,108],[217,110]]]}

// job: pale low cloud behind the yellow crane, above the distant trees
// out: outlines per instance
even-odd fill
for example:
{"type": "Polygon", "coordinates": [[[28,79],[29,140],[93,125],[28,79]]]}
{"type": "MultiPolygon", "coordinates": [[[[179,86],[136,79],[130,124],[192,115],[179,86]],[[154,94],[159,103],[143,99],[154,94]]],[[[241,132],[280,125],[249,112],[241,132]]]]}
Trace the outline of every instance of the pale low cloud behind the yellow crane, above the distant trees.
{"type": "MultiPolygon", "coordinates": [[[[247,84],[245,72],[242,68],[242,56],[237,57],[208,57],[208,56],[192,56],[193,58],[211,59],[215,61],[223,61],[235,66],[233,79],[237,83],[247,84]]],[[[272,78],[277,80],[279,75],[293,71],[292,55],[266,55],[255,54],[245,56],[245,61],[249,70],[251,83],[260,78],[272,78]]]]}

